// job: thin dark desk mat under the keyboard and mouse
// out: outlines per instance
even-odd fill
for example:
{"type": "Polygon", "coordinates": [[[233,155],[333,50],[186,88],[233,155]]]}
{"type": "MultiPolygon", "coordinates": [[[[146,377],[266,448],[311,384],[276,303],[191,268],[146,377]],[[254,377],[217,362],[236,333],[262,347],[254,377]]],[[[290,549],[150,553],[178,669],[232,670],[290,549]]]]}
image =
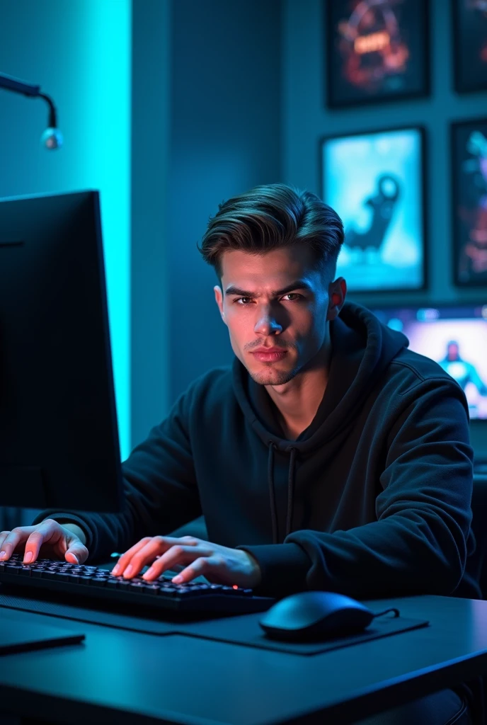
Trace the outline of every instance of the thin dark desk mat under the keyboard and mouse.
{"type": "MultiPolygon", "coordinates": [[[[146,616],[146,613],[144,613],[144,616],[134,616],[133,614],[110,612],[99,606],[93,606],[93,600],[90,601],[89,609],[83,609],[64,603],[59,604],[59,602],[53,600],[41,600],[37,597],[19,597],[1,593],[4,591],[5,585],[1,585],[0,607],[20,609],[91,624],[103,624],[115,629],[128,629],[143,634],[159,634],[162,636],[185,634],[188,637],[211,639],[214,642],[228,642],[246,647],[258,647],[264,650],[278,650],[293,655],[318,655],[328,650],[357,645],[359,642],[387,637],[390,634],[418,629],[430,624],[428,620],[424,619],[392,617],[390,614],[385,614],[374,619],[372,624],[364,631],[348,637],[327,638],[319,642],[278,642],[278,640],[269,639],[259,626],[259,618],[263,615],[263,612],[229,617],[218,616],[205,621],[192,622],[183,621],[180,616],[173,616],[168,621],[169,615],[166,616],[165,613],[165,621],[162,621],[154,618],[154,613],[151,613],[150,616],[146,616]]],[[[118,608],[120,608],[120,605],[118,605],[118,608]]],[[[156,616],[160,616],[160,613],[157,612],[156,616]]]]}

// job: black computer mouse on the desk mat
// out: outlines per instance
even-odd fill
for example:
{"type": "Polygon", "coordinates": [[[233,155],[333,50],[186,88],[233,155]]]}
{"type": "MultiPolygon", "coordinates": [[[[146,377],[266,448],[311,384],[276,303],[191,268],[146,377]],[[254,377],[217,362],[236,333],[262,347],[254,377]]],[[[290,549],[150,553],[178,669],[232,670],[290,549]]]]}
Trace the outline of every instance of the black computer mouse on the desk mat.
{"type": "Polygon", "coordinates": [[[310,642],[357,634],[374,616],[365,605],[336,592],[299,592],[272,605],[259,624],[272,639],[310,642]]]}

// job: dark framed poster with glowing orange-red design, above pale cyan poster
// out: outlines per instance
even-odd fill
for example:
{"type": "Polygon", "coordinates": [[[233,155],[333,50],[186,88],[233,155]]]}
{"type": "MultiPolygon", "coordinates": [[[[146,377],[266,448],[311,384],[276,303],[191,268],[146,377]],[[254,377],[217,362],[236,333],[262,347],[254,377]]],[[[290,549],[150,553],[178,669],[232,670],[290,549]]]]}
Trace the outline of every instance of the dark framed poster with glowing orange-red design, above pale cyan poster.
{"type": "Polygon", "coordinates": [[[428,0],[328,0],[330,108],[429,93],[428,0]]]}

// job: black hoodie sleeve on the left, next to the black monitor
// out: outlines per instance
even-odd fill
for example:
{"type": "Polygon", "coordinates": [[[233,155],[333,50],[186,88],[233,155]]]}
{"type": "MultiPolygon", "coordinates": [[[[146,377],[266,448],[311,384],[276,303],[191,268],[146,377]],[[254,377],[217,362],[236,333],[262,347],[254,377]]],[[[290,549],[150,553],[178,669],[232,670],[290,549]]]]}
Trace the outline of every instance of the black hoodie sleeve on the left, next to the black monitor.
{"type": "Polygon", "coordinates": [[[45,518],[77,523],[86,534],[88,560],[124,552],[143,537],[166,534],[201,515],[199,491],[188,437],[188,393],[122,463],[125,500],[121,513],[42,511],[45,518]]]}

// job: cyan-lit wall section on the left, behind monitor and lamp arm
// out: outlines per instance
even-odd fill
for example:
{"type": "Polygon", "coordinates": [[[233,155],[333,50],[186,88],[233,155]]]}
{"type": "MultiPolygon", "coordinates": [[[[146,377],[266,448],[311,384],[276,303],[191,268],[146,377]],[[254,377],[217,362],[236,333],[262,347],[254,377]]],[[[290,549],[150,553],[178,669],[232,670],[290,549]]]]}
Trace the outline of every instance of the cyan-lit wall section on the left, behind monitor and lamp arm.
{"type": "Polygon", "coordinates": [[[52,96],[64,145],[41,146],[43,101],[2,91],[0,197],[100,191],[124,458],[130,450],[131,35],[130,0],[22,0],[1,8],[0,71],[52,96]]]}

